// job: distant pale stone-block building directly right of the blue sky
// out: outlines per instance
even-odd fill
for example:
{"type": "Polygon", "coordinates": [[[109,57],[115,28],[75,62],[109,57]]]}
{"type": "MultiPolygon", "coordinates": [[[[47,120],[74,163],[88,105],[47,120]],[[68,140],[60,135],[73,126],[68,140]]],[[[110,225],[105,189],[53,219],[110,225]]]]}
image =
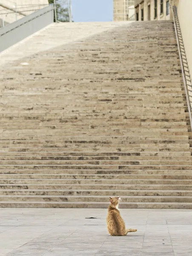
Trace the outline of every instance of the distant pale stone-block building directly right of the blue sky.
{"type": "Polygon", "coordinates": [[[113,0],[113,20],[135,20],[135,0],[113,0]]]}

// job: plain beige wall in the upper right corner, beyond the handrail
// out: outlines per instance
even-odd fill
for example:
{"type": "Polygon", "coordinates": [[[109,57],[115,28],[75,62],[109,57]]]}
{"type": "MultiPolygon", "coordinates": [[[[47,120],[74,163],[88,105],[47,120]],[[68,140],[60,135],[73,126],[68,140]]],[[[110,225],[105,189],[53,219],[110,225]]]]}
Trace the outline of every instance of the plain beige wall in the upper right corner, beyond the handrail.
{"type": "Polygon", "coordinates": [[[192,0],[178,1],[178,17],[190,75],[192,77],[192,0]]]}

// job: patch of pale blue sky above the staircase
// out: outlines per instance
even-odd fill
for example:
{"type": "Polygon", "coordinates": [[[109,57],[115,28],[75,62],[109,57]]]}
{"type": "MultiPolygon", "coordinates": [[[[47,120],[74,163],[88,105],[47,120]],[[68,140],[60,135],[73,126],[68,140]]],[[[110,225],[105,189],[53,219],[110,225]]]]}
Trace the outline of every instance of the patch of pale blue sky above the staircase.
{"type": "Polygon", "coordinates": [[[75,22],[112,21],[113,0],[72,0],[75,22]]]}

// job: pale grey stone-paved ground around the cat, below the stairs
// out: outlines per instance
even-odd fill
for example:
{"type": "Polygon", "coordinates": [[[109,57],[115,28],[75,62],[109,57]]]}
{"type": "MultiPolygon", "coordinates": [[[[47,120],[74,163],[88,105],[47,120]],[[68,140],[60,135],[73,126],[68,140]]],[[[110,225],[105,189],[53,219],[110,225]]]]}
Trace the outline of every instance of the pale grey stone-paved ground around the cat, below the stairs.
{"type": "Polygon", "coordinates": [[[0,209],[0,256],[190,256],[192,211],[121,209],[138,232],[109,236],[107,209],[0,209]],[[97,219],[88,219],[95,217],[97,219]]]}

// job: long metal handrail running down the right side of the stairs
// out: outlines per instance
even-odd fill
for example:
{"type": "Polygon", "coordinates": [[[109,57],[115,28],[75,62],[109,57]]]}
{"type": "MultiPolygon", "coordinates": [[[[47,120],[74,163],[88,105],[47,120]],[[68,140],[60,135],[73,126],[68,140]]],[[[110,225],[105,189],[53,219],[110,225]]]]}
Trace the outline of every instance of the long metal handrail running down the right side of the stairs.
{"type": "Polygon", "coordinates": [[[192,112],[192,109],[191,109],[192,102],[190,102],[188,88],[187,88],[187,86],[192,87],[190,74],[189,74],[189,67],[187,64],[187,58],[186,58],[185,48],[184,48],[184,44],[183,44],[183,38],[182,38],[181,29],[180,29],[180,25],[179,25],[177,7],[172,6],[172,5],[171,5],[171,7],[172,7],[174,27],[175,27],[175,35],[176,35],[177,44],[178,44],[179,58],[180,58],[180,63],[181,63],[183,84],[184,84],[185,93],[186,93],[187,108],[188,108],[188,112],[189,112],[189,119],[190,119],[190,124],[191,124],[191,129],[192,129],[192,113],[191,113],[192,112]],[[188,74],[186,74],[186,73],[188,73],[188,74]]]}

